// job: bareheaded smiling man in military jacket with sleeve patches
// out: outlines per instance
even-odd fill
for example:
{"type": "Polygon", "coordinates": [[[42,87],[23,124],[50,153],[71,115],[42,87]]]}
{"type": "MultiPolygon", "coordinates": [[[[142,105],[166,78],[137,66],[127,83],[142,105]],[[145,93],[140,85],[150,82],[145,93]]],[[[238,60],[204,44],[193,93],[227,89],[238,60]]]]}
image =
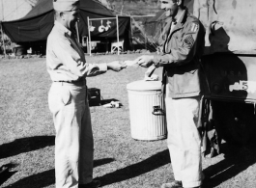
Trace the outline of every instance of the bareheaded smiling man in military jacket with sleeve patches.
{"type": "Polygon", "coordinates": [[[200,56],[205,31],[200,21],[187,12],[184,0],[160,0],[165,11],[162,54],[136,59],[142,67],[163,67],[167,119],[167,146],[175,181],[161,188],[191,188],[202,185],[201,135],[199,121],[200,56]]]}

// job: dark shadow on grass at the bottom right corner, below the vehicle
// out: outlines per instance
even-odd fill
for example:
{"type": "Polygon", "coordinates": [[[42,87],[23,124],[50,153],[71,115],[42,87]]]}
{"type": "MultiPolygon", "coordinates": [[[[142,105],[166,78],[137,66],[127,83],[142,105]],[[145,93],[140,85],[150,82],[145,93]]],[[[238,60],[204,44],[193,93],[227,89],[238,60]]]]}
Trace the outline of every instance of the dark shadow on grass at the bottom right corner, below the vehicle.
{"type": "Polygon", "coordinates": [[[221,145],[221,149],[225,159],[204,170],[207,178],[205,187],[207,188],[217,187],[256,163],[255,146],[242,147],[225,143],[221,145]]]}

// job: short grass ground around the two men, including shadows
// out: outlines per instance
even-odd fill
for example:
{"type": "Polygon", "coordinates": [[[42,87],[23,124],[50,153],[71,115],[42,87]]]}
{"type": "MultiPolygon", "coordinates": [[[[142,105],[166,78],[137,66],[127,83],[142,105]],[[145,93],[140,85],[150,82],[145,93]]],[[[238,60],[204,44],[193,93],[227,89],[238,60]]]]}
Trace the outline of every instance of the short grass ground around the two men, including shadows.
{"type": "MultiPolygon", "coordinates": [[[[88,62],[135,59],[138,54],[87,57],[88,62]]],[[[104,100],[117,99],[121,108],[92,106],[95,137],[94,178],[104,188],[155,188],[172,180],[166,141],[135,141],[130,136],[128,83],[143,79],[145,68],[128,67],[88,78],[104,100]]],[[[156,74],[161,75],[161,69],[156,74]]],[[[0,187],[54,187],[54,127],[47,106],[51,81],[45,59],[0,61],[0,167],[13,163],[0,175],[0,187]]],[[[256,187],[255,147],[223,143],[222,154],[203,159],[212,187],[256,187]]]]}

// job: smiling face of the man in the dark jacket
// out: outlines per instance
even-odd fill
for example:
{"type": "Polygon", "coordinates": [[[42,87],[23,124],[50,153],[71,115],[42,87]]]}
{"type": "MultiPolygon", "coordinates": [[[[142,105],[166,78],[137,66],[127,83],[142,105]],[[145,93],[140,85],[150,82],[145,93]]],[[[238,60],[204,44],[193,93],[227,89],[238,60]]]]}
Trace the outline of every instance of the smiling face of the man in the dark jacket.
{"type": "Polygon", "coordinates": [[[166,17],[175,17],[178,13],[178,4],[176,0],[160,0],[161,9],[165,11],[166,17]]]}

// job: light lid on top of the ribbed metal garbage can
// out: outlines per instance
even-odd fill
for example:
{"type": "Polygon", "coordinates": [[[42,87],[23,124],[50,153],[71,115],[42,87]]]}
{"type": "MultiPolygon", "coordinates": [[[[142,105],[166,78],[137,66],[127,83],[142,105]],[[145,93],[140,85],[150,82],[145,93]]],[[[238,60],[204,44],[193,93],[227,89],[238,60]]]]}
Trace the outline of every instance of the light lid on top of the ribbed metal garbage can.
{"type": "Polygon", "coordinates": [[[129,83],[127,89],[135,91],[161,90],[161,81],[138,80],[129,83]]]}

